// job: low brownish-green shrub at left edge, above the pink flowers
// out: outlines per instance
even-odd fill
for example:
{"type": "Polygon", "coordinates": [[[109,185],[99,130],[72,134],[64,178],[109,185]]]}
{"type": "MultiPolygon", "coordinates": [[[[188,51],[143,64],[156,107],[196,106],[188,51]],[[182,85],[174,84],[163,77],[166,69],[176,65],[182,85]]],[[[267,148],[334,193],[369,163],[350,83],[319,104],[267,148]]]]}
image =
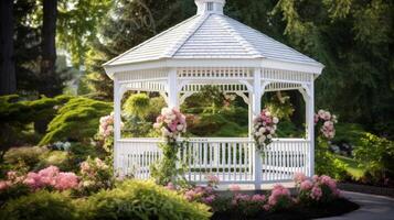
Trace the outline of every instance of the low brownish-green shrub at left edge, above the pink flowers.
{"type": "Polygon", "coordinates": [[[23,163],[32,169],[40,163],[40,157],[47,152],[46,147],[41,146],[13,147],[6,152],[4,163],[10,165],[23,163]]]}

